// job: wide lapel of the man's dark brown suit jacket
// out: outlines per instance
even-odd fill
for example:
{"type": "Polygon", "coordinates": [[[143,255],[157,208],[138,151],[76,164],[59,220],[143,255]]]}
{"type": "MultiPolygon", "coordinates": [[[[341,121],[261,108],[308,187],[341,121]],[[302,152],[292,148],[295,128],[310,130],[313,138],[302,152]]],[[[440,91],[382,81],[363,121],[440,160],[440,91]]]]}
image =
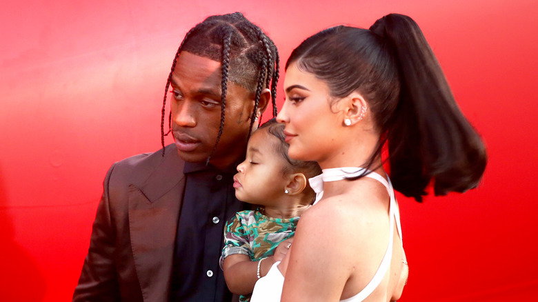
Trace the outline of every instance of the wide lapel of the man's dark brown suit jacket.
{"type": "Polygon", "coordinates": [[[166,148],[160,165],[143,184],[129,186],[130,239],[144,301],[168,300],[185,188],[183,164],[175,147],[166,148]]]}

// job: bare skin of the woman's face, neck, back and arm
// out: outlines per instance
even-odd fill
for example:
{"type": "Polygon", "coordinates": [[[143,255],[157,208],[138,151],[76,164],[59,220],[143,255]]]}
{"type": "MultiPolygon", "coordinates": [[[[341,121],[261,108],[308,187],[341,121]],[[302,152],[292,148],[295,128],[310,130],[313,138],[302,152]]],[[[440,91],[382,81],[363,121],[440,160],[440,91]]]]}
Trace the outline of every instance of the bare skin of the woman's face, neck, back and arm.
{"type": "MultiPolygon", "coordinates": [[[[325,82],[292,63],[284,81],[286,101],[277,120],[286,124],[292,158],[318,161],[322,169],[362,166],[379,133],[358,92],[330,98],[325,82]],[[351,125],[343,124],[350,119],[351,125]],[[305,121],[315,120],[306,126],[305,121]],[[312,125],[312,127],[310,127],[312,125]],[[319,143],[319,142],[326,143],[319,143]]],[[[386,176],[378,158],[375,172],[386,176]]],[[[369,178],[324,184],[323,199],[299,221],[293,247],[279,268],[285,274],[281,301],[339,301],[370,282],[383,259],[389,234],[386,188],[369,178]],[[327,223],[338,221],[338,223],[327,223]],[[308,276],[308,281],[304,278],[308,276]]],[[[397,234],[395,226],[395,234],[397,234]]],[[[365,301],[399,299],[407,277],[401,241],[395,235],[390,268],[365,301]]]]}

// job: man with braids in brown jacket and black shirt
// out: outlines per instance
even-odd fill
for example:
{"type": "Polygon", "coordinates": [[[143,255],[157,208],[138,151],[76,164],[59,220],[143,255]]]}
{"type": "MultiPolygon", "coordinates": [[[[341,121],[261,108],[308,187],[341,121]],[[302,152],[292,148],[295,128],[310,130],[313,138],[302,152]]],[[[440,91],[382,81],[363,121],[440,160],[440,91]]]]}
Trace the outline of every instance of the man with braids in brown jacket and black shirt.
{"type": "Polygon", "coordinates": [[[186,34],[166,84],[163,149],[108,171],[73,301],[230,301],[219,256],[224,223],[243,209],[232,177],[270,99],[275,115],[278,62],[239,12],[186,34]],[[169,88],[175,144],[164,147],[169,88]]]}

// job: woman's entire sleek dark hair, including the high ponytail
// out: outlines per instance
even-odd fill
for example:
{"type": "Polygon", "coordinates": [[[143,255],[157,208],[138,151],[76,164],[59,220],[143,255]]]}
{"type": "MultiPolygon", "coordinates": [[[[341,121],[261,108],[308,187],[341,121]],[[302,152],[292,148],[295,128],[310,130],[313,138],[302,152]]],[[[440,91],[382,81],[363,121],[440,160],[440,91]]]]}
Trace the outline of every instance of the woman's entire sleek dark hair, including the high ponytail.
{"type": "MultiPolygon", "coordinates": [[[[475,188],[486,168],[484,142],[459,110],[419,26],[388,14],[369,30],[337,26],[306,39],[286,63],[328,83],[334,99],[359,92],[379,142],[368,170],[388,147],[394,187],[417,201],[475,188]]],[[[381,163],[382,164],[382,163],[381,163]]]]}

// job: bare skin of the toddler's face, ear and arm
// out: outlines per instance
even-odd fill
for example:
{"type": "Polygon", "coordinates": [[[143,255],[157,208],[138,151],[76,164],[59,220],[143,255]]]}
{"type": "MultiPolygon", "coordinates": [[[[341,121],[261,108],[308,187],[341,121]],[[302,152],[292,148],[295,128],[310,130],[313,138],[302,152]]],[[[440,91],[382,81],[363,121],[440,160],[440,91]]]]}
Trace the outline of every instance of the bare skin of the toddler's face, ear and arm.
{"type": "MultiPolygon", "coordinates": [[[[302,173],[283,174],[288,165],[277,152],[277,137],[266,128],[257,130],[248,141],[246,159],[237,166],[234,188],[237,199],[263,205],[265,214],[273,218],[301,216],[310,206],[310,200],[302,194],[306,177],[302,173]],[[288,194],[284,191],[288,190],[288,194]]],[[[273,256],[261,262],[260,275],[265,276],[276,261],[288,252],[288,239],[279,244],[273,256]]],[[[232,254],[223,261],[226,283],[235,294],[250,294],[257,281],[258,261],[249,256],[232,254]]]]}

